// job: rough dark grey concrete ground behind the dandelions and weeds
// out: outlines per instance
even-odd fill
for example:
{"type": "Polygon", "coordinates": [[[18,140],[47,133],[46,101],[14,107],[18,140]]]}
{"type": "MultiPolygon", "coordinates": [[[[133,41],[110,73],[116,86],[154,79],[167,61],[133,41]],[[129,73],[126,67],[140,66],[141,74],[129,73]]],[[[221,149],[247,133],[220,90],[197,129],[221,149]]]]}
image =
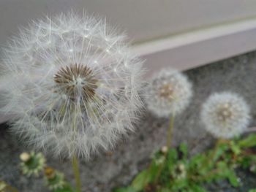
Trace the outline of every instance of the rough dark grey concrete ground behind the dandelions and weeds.
{"type": "MultiPolygon", "coordinates": [[[[199,120],[200,106],[216,91],[240,93],[252,107],[252,123],[256,117],[256,54],[248,53],[185,72],[194,84],[192,104],[176,118],[173,145],[185,141],[190,153],[211,146],[213,139],[206,134],[199,120]]],[[[136,131],[121,139],[111,153],[99,153],[90,162],[80,164],[83,191],[109,192],[115,186],[126,185],[140,169],[147,166],[152,151],[165,143],[168,120],[155,118],[145,112],[136,131]]],[[[29,151],[17,137],[10,134],[8,126],[0,127],[0,180],[6,180],[21,192],[45,192],[41,179],[26,178],[18,170],[19,155],[29,151]]],[[[67,180],[74,182],[68,160],[47,156],[48,164],[61,170],[67,180]]],[[[255,186],[256,188],[256,186],[255,186]]],[[[213,189],[214,191],[214,189],[213,189]]],[[[216,190],[215,190],[216,191],[216,190]]]]}

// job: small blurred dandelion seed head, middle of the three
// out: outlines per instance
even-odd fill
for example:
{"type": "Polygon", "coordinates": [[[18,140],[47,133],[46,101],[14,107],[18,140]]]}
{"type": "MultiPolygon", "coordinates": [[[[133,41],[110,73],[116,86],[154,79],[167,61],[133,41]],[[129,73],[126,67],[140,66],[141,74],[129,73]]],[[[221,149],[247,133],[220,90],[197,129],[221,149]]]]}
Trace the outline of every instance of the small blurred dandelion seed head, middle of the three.
{"type": "Polygon", "coordinates": [[[146,88],[148,110],[159,117],[181,113],[192,98],[192,84],[187,76],[174,69],[162,69],[146,88]]]}

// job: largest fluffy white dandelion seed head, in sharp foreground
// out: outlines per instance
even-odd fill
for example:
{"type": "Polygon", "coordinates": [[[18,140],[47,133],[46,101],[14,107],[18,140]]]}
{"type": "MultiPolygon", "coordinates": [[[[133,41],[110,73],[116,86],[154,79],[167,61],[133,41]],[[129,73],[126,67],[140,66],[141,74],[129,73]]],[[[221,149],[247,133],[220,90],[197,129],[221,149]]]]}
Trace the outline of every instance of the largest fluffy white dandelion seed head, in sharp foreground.
{"type": "Polygon", "coordinates": [[[12,130],[56,155],[90,157],[132,130],[142,63],[105,20],[73,12],[20,30],[4,50],[1,111],[12,130]]]}

